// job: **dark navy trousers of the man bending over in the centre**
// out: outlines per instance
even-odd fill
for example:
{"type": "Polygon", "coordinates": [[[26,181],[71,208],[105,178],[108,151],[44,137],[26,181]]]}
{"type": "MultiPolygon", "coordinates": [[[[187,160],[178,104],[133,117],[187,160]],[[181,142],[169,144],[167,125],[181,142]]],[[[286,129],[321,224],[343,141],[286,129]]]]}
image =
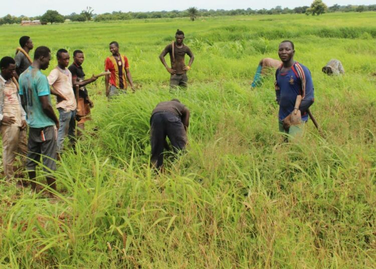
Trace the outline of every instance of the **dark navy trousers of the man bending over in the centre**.
{"type": "Polygon", "coordinates": [[[167,148],[166,137],[173,151],[185,149],[186,132],[181,119],[171,112],[157,112],[150,118],[151,163],[160,168],[163,164],[163,149],[167,148]]]}

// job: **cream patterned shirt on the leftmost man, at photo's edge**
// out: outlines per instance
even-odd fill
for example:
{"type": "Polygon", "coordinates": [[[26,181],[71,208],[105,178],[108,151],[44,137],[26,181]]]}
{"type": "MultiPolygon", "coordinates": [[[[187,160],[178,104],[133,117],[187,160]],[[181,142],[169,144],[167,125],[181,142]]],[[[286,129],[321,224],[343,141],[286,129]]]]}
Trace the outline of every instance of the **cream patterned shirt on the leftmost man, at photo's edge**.
{"type": "Polygon", "coordinates": [[[17,86],[13,81],[5,84],[3,115],[14,116],[16,121],[11,125],[21,127],[21,106],[17,96],[17,86]]]}

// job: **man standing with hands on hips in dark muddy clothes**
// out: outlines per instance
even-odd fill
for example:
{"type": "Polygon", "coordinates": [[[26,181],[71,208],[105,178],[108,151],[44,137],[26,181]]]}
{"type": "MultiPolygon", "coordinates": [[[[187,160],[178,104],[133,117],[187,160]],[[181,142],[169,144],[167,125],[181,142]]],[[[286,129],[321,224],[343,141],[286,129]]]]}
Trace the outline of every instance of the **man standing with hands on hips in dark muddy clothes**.
{"type": "Polygon", "coordinates": [[[184,33],[180,30],[177,30],[175,34],[175,42],[167,45],[162,53],[159,55],[159,59],[166,68],[167,72],[171,74],[170,77],[170,88],[176,88],[177,86],[186,88],[188,78],[186,72],[191,69],[191,65],[195,59],[195,56],[191,52],[190,48],[183,44],[184,33]],[[168,67],[164,56],[169,53],[171,68],[168,67]],[[184,56],[187,54],[190,56],[190,61],[188,65],[185,65],[184,56]]]}

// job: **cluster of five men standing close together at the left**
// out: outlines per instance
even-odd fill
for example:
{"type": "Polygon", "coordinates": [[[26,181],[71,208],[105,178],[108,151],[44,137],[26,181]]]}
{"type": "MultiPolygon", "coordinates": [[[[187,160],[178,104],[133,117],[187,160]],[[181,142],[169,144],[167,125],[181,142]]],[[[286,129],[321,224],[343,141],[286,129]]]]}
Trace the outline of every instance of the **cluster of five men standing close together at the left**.
{"type": "MultiPolygon", "coordinates": [[[[49,66],[50,49],[38,47],[34,53],[34,60],[31,60],[29,52],[34,48],[31,38],[22,37],[20,45],[15,59],[4,57],[0,61],[0,119],[4,172],[8,181],[14,177],[14,162],[16,154],[19,153],[31,179],[32,189],[36,190],[35,171],[42,156],[43,169],[48,174],[47,183],[56,190],[55,179],[49,172],[56,170],[56,160],[63,151],[67,135],[74,146],[76,119],[81,129],[84,128],[84,122],[89,119],[93,103],[85,85],[95,81],[96,77],[85,80],[81,66],[84,54],[81,50],[74,51],[74,63],[68,67],[70,56],[65,49],[58,50],[58,65],[46,77],[41,70],[46,70],[49,66]],[[77,94],[73,85],[80,87],[77,94]],[[57,97],[56,108],[59,118],[52,107],[51,94],[57,97]],[[77,109],[78,105],[80,109],[77,109]]],[[[80,133],[78,132],[78,135],[80,133]]],[[[21,185],[25,183],[18,182],[21,185]]]]}

